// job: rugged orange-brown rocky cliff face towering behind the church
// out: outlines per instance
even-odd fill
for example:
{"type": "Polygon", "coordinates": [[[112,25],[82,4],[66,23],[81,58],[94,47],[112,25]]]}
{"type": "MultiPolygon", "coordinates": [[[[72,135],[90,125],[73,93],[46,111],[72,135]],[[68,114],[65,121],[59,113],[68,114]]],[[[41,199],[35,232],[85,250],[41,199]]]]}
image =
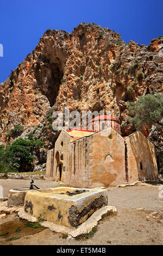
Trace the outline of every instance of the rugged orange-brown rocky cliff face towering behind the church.
{"type": "MultiPolygon", "coordinates": [[[[1,143],[13,141],[15,137],[7,133],[21,125],[19,136],[33,132],[45,142],[35,163],[45,162],[46,151],[54,147],[57,137],[47,118],[64,107],[111,110],[122,123],[122,135],[129,135],[135,128],[126,122],[127,102],[162,93],[162,50],[163,38],[153,39],[148,46],[126,44],[120,34],[91,23],[81,23],[72,34],[48,29],[0,85],[1,143]]],[[[161,140],[157,132],[156,139],[151,137],[155,144],[161,140]]]]}

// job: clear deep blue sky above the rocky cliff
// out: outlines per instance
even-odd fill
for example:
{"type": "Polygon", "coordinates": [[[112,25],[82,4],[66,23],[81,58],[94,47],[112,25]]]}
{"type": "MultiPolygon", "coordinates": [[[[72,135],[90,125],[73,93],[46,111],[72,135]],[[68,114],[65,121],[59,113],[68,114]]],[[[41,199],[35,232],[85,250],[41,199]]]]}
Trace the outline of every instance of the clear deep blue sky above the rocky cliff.
{"type": "Polygon", "coordinates": [[[32,52],[48,29],[72,32],[81,22],[109,27],[125,42],[148,45],[163,35],[162,0],[1,0],[0,82],[32,52]]]}

